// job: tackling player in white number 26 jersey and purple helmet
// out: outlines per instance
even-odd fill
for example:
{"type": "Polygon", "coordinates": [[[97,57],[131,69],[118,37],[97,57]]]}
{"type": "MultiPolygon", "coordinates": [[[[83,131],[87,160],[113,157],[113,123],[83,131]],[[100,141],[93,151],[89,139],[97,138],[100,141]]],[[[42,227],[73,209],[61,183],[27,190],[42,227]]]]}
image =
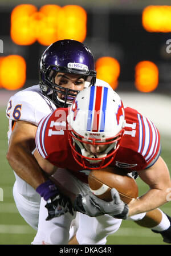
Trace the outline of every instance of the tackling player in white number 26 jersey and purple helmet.
{"type": "MultiPolygon", "coordinates": [[[[68,107],[78,91],[95,84],[94,60],[89,49],[75,40],[61,40],[44,51],[39,63],[40,84],[19,91],[7,105],[9,150],[7,160],[14,170],[14,200],[21,216],[34,229],[38,227],[40,195],[36,188],[48,178],[34,156],[34,137],[39,121],[58,107],[68,107]]],[[[97,79],[98,86],[101,80],[97,79]]],[[[104,84],[104,82],[103,82],[104,84]]],[[[105,86],[109,86],[105,83],[105,86]]],[[[157,211],[157,210],[156,210],[157,211]]],[[[148,213],[144,227],[156,226],[164,213],[148,213]],[[156,224],[156,225],[154,225],[156,224]]],[[[162,225],[161,225],[162,226],[162,225]]],[[[167,229],[167,226],[164,226],[167,229]]]]}

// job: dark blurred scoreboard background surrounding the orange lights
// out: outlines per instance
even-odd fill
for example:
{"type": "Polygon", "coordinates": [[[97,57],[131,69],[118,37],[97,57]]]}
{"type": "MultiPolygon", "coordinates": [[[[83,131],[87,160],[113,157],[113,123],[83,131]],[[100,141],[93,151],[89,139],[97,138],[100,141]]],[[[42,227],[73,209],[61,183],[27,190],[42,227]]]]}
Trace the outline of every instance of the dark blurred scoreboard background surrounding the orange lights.
{"type": "MultiPolygon", "coordinates": [[[[38,84],[38,60],[46,46],[38,42],[30,46],[19,46],[11,40],[10,15],[14,7],[0,9],[3,56],[19,54],[25,58],[27,79],[24,87],[28,87],[38,84]]],[[[136,91],[135,66],[141,60],[150,60],[159,70],[159,84],[155,92],[171,93],[171,53],[166,53],[166,40],[171,38],[170,33],[145,31],[141,22],[143,9],[134,11],[95,7],[84,7],[84,9],[87,11],[87,38],[83,43],[91,49],[95,60],[101,56],[112,56],[120,63],[119,86],[116,91],[136,91]]]]}

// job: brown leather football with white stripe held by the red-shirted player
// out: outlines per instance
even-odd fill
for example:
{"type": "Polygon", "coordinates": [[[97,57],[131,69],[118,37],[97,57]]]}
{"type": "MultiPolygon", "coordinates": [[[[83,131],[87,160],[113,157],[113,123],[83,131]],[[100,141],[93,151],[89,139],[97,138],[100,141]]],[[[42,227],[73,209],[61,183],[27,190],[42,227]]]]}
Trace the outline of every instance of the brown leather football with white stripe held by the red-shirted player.
{"type": "Polygon", "coordinates": [[[92,170],[88,176],[88,184],[91,192],[104,201],[112,200],[112,188],[117,189],[121,200],[126,204],[139,194],[138,186],[131,174],[114,167],[92,170]]]}

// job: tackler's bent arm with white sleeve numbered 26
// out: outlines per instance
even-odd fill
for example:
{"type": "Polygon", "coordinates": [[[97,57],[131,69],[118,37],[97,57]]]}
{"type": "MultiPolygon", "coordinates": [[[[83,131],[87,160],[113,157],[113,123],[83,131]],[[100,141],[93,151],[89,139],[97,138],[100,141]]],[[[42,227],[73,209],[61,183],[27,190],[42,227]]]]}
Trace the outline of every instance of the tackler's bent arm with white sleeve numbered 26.
{"type": "Polygon", "coordinates": [[[32,151],[35,149],[35,107],[22,94],[11,97],[7,111],[10,139],[7,160],[19,177],[33,188],[47,180],[32,151]]]}

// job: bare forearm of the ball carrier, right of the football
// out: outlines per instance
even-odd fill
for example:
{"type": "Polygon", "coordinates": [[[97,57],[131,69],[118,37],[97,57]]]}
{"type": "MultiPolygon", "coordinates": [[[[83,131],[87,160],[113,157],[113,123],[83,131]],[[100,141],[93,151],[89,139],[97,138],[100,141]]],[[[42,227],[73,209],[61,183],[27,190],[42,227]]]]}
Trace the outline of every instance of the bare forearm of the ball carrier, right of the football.
{"type": "Polygon", "coordinates": [[[168,192],[161,189],[150,189],[146,194],[130,202],[129,216],[135,214],[149,212],[156,209],[161,205],[164,205],[167,201],[168,192]]]}

